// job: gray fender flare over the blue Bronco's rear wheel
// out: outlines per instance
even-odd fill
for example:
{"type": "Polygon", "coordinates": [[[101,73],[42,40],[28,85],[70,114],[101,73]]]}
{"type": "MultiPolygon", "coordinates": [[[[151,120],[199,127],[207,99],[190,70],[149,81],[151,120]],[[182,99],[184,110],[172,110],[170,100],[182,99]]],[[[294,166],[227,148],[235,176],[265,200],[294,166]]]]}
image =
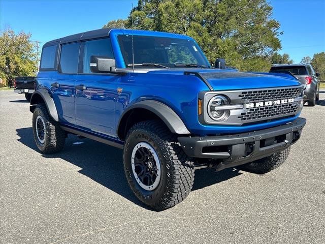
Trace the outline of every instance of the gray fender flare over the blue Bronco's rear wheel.
{"type": "Polygon", "coordinates": [[[49,112],[50,116],[55,120],[55,121],[59,121],[59,116],[57,114],[57,110],[56,110],[56,106],[54,103],[53,98],[51,97],[51,95],[49,94],[47,89],[39,89],[36,92],[34,92],[31,96],[30,99],[30,111],[33,112],[34,109],[32,107],[34,107],[33,105],[39,104],[39,96],[43,99],[47,111],[49,112]]]}

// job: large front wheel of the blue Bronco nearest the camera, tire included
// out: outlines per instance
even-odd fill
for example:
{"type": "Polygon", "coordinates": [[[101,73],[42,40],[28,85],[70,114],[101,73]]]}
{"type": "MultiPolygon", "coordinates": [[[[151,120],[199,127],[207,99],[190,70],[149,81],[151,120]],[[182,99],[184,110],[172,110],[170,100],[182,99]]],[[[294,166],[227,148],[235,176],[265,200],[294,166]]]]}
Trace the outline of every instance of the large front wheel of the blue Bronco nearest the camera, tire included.
{"type": "Polygon", "coordinates": [[[159,120],[140,122],[128,131],[123,161],[129,186],[156,211],[180,203],[192,189],[193,161],[159,120]]]}

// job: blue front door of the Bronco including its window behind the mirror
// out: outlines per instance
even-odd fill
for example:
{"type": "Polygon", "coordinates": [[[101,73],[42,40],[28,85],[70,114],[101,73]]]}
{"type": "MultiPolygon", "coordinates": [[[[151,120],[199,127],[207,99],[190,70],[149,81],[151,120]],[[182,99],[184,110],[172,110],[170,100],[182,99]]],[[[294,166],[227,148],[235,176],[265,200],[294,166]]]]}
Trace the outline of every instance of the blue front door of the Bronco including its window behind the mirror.
{"type": "Polygon", "coordinates": [[[83,42],[81,55],[76,82],[76,124],[84,130],[116,137],[115,102],[120,76],[90,71],[90,56],[114,58],[110,39],[83,42]]]}

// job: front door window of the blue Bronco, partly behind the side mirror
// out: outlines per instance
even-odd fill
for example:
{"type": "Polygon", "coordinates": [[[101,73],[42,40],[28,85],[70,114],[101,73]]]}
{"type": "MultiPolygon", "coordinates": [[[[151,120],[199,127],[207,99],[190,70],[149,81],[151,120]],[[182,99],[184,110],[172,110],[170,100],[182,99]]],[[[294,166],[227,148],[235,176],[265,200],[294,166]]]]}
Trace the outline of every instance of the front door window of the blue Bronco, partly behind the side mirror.
{"type": "Polygon", "coordinates": [[[83,54],[83,73],[85,74],[91,73],[89,64],[92,55],[114,58],[110,39],[105,38],[85,42],[83,54]]]}

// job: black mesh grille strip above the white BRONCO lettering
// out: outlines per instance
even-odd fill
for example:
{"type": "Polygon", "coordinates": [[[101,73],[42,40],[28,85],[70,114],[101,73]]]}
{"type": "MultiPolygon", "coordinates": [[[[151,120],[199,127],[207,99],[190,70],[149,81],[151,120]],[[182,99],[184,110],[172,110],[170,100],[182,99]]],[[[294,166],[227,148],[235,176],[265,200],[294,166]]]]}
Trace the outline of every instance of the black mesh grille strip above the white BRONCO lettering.
{"type": "Polygon", "coordinates": [[[250,90],[242,92],[239,98],[249,102],[263,102],[278,99],[296,98],[300,95],[301,88],[279,88],[279,89],[264,89],[250,90]]]}

